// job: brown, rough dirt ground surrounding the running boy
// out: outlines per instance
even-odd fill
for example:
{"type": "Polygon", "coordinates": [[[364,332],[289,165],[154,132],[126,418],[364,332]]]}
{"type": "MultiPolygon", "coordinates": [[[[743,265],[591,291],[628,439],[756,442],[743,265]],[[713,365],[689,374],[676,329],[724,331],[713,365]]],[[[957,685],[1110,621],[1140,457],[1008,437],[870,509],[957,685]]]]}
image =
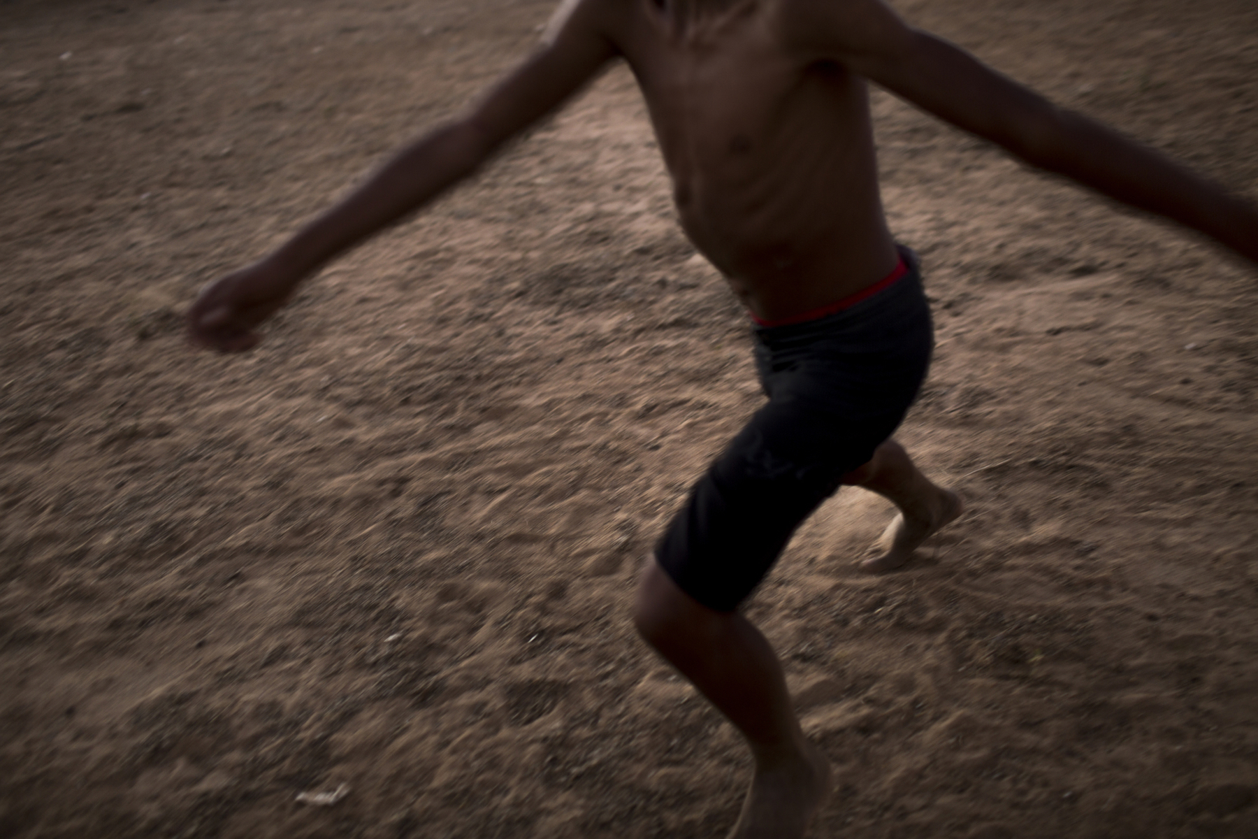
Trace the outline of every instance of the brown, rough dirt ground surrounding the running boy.
{"type": "MultiPolygon", "coordinates": [[[[257,351],[179,331],[550,6],[0,4],[0,835],[732,823],[746,755],[628,611],[761,397],[623,67],[257,351]]],[[[1258,195],[1252,0],[897,6],[1258,195]]],[[[902,439],[969,512],[868,577],[845,491],[747,606],[837,767],[813,835],[1258,836],[1258,277],[876,112],[938,332],[902,439]]]]}

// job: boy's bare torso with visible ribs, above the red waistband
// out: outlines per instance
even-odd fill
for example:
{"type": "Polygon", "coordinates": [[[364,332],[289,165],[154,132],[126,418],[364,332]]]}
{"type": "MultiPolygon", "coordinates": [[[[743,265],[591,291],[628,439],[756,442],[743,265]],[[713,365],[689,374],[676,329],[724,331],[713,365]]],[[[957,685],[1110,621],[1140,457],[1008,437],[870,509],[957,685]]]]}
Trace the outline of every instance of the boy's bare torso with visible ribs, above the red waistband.
{"type": "Polygon", "coordinates": [[[752,312],[814,309],[894,267],[864,79],[789,49],[776,3],[621,5],[682,226],[752,312]]]}

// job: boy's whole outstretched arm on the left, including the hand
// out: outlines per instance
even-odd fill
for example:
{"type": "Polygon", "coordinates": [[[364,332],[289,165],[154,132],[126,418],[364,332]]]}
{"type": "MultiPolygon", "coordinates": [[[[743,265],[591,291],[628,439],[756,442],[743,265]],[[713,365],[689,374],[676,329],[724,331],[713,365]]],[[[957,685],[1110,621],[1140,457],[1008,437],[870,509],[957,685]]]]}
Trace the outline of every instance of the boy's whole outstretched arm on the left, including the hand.
{"type": "Polygon", "coordinates": [[[565,4],[541,48],[481,102],[403,148],[273,253],[206,286],[187,312],[192,342],[223,352],[253,347],[262,340],[255,327],[303,279],[470,175],[575,93],[616,54],[590,18],[565,4]]]}

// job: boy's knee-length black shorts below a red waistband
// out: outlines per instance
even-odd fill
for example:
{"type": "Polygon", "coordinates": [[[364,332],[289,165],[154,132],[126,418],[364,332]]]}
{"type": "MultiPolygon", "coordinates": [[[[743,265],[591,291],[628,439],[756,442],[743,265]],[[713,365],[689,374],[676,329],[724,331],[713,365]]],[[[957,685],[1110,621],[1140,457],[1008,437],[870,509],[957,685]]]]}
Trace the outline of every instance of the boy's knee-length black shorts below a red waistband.
{"type": "Polygon", "coordinates": [[[756,327],[769,403],[712,463],[655,548],[683,591],[732,611],[795,528],[905,419],[933,332],[916,258],[908,273],[834,314],[756,327]]]}

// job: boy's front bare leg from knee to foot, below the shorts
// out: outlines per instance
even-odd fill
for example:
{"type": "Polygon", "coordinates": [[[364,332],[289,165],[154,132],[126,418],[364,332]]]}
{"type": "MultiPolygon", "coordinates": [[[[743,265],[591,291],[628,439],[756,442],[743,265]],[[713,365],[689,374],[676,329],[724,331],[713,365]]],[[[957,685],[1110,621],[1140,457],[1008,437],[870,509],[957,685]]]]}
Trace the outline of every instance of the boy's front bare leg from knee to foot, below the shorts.
{"type": "Polygon", "coordinates": [[[830,767],[804,738],[765,636],[738,613],[691,597],[654,558],[638,587],[634,623],[751,747],[755,776],[730,839],[803,836],[830,792],[830,767]]]}

